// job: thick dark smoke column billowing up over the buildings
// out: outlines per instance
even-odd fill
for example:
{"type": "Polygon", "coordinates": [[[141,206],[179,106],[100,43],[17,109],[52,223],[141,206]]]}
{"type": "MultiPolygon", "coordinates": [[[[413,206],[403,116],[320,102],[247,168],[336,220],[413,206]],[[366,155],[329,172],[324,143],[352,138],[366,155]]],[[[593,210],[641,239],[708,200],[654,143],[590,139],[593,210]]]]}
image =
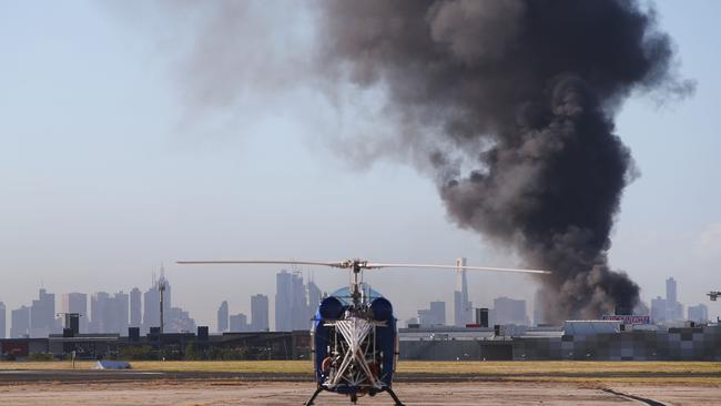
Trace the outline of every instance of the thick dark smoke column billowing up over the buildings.
{"type": "Polygon", "coordinates": [[[328,1],[328,77],[383,87],[395,144],[430,163],[458,225],[516,247],[557,318],[632,308],[608,266],[633,164],[631,91],[683,95],[670,39],[634,1],[328,1]]]}

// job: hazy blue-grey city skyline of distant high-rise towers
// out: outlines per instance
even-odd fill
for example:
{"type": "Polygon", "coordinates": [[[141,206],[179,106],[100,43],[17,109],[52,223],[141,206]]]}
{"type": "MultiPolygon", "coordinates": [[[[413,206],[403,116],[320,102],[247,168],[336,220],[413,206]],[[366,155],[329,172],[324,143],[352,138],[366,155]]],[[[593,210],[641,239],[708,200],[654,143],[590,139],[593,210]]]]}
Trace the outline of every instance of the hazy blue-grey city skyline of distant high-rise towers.
{"type": "MultiPolygon", "coordinates": [[[[463,257],[456,260],[456,264],[463,262],[463,257]]],[[[308,273],[307,275],[312,275],[308,273]]],[[[456,273],[456,287],[453,292],[447,292],[448,301],[435,300],[429,302],[427,308],[417,309],[409,318],[413,323],[422,325],[456,325],[456,311],[447,303],[454,303],[459,296],[459,288],[463,284],[463,277],[456,273]],[[449,317],[450,316],[450,317],[449,317]]],[[[216,333],[224,332],[251,332],[251,331],[292,331],[307,329],[309,321],[313,317],[317,304],[323,296],[323,290],[315,284],[315,278],[309,276],[307,283],[304,283],[303,274],[298,271],[288,272],[281,270],[275,274],[276,290],[273,300],[276,303],[284,302],[281,307],[275,307],[287,312],[287,317],[280,319],[281,325],[271,324],[271,301],[270,295],[257,293],[246,298],[235,297],[240,303],[248,303],[247,313],[236,312],[243,306],[233,307],[229,301],[221,302],[216,312],[215,324],[213,319],[200,319],[196,322],[192,317],[192,311],[185,311],[182,306],[173,306],[171,300],[171,282],[165,277],[161,268],[160,277],[153,276],[153,282],[144,293],[144,300],[140,301],[141,291],[133,287],[130,294],[122,290],[114,294],[106,292],[95,292],[92,294],[71,292],[55,294],[48,288],[41,287],[38,291],[38,298],[31,300],[30,306],[21,305],[17,308],[7,306],[0,301],[0,328],[4,316],[6,331],[0,329],[0,337],[4,334],[7,337],[21,337],[30,334],[31,337],[45,337],[50,333],[62,332],[63,313],[80,313],[80,333],[120,333],[126,334],[128,327],[141,327],[142,334],[148,334],[150,327],[159,324],[160,300],[158,296],[158,286],[160,283],[166,286],[165,307],[166,307],[166,332],[192,332],[200,325],[211,326],[216,333]],[[135,297],[135,300],[133,300],[135,297]],[[313,305],[315,303],[315,305],[313,305]],[[141,313],[141,304],[144,311],[141,313]],[[2,306],[6,311],[2,312],[2,306]],[[55,313],[55,308],[58,312],[55,313]],[[33,309],[35,309],[33,312],[33,309]],[[94,309],[94,312],[93,312],[94,309]],[[288,311],[290,309],[290,311],[288,311]],[[148,312],[148,313],[145,313],[148,312]],[[34,314],[33,314],[34,313],[34,314]],[[97,313],[97,315],[95,315],[97,313]],[[58,317],[55,317],[58,316],[58,317]],[[221,319],[225,317],[225,328],[220,328],[221,319]],[[142,319],[142,323],[139,321],[142,319]],[[306,327],[305,325],[308,324],[306,327]]],[[[709,314],[707,303],[692,302],[688,305],[678,301],[679,283],[674,277],[669,277],[664,282],[664,297],[660,295],[652,298],[649,303],[642,303],[636,309],[634,314],[647,314],[653,323],[694,321],[694,322],[713,322],[715,321],[709,314]],[[639,313],[641,312],[641,313],[639,313]]],[[[682,290],[681,290],[682,291],[682,290]]],[[[328,293],[329,291],[325,291],[328,293]]],[[[500,295],[486,298],[484,302],[492,305],[476,305],[471,308],[488,308],[489,324],[515,324],[515,325],[538,325],[538,305],[528,306],[524,298],[509,297],[512,295],[500,295]],[[530,315],[534,315],[532,319],[530,315]]],[[[474,312],[471,312],[474,313],[474,312]]],[[[600,317],[600,315],[599,315],[600,317]]],[[[717,316],[718,317],[718,316],[717,316]]],[[[399,319],[408,319],[399,316],[399,319]]],[[[278,321],[277,316],[275,318],[278,321]]],[[[475,319],[466,324],[473,324],[475,319]]],[[[542,321],[541,321],[542,323],[542,321]]]]}

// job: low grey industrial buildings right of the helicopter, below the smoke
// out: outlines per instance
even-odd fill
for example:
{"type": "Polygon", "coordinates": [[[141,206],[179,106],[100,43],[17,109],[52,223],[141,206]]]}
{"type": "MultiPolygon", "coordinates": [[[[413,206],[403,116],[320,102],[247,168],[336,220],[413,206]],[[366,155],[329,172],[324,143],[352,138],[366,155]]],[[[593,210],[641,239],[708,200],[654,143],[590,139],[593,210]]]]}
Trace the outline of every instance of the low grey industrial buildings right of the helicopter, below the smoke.
{"type": "Polygon", "coordinates": [[[402,359],[721,361],[721,326],[624,325],[569,321],[562,326],[445,327],[399,331],[402,359]]]}

